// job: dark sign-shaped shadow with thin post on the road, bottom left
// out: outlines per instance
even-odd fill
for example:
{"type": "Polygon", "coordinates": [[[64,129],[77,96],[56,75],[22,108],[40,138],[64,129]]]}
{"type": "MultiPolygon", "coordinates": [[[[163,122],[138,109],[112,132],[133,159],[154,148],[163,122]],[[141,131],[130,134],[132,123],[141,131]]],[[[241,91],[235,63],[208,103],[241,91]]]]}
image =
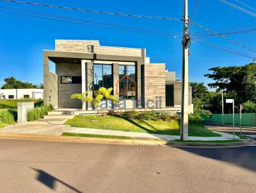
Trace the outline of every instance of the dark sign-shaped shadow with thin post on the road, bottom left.
{"type": "Polygon", "coordinates": [[[76,188],[72,187],[71,185],[68,185],[64,181],[62,181],[58,178],[55,178],[54,176],[52,176],[49,173],[46,173],[45,171],[42,171],[41,169],[34,169],[34,168],[32,168],[32,169],[38,173],[37,180],[52,190],[55,189],[56,182],[58,181],[62,185],[65,185],[66,187],[68,187],[70,190],[73,190],[74,192],[81,192],[81,191],[77,190],[76,188]]]}

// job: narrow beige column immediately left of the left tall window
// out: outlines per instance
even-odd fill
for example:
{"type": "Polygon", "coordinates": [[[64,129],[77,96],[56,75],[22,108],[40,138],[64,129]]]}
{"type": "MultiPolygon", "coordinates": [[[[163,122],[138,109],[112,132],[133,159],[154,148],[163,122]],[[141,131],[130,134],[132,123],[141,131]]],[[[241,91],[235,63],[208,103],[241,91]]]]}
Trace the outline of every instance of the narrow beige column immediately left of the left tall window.
{"type": "MultiPolygon", "coordinates": [[[[86,63],[86,91],[88,91],[88,96],[93,96],[93,63],[86,63]]],[[[92,103],[87,104],[87,109],[92,110],[92,103]]]]}

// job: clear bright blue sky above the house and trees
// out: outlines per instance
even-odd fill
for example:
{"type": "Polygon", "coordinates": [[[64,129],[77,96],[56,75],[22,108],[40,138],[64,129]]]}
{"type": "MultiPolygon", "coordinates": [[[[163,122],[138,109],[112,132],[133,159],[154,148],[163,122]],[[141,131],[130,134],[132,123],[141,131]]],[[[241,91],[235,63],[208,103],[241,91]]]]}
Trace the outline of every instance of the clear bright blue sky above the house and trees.
{"type": "MultiPolygon", "coordinates": [[[[132,13],[137,15],[153,15],[159,17],[180,18],[183,14],[182,0],[164,1],[79,1],[79,0],[27,0],[34,3],[54,4],[100,10],[106,12],[132,13]]],[[[236,0],[228,0],[236,3],[236,0]]],[[[241,0],[256,8],[256,1],[241,0]]],[[[196,0],[189,0],[189,13],[193,11],[196,0]]],[[[241,4],[239,4],[241,5],[241,4]]],[[[182,22],[171,20],[138,19],[114,15],[76,12],[44,8],[40,6],[6,3],[0,1],[1,7],[17,8],[33,12],[51,13],[65,17],[74,17],[83,20],[108,22],[122,26],[134,26],[158,31],[167,31],[173,35],[182,35],[182,22]]],[[[176,71],[177,78],[181,77],[182,49],[180,39],[174,37],[148,35],[102,27],[67,24],[52,20],[35,19],[21,15],[3,13],[0,8],[0,85],[5,77],[16,77],[22,81],[39,84],[43,82],[43,53],[44,49],[54,49],[55,39],[100,40],[101,45],[146,48],[151,63],[166,63],[169,71],[176,71]]],[[[253,11],[253,10],[252,10],[253,11]]],[[[6,11],[4,11],[6,12],[6,11]]],[[[201,0],[193,17],[195,22],[210,29],[232,27],[229,31],[255,29],[256,18],[239,12],[218,0],[201,0]],[[248,27],[252,26],[252,27],[248,27]],[[254,27],[253,27],[254,26],[254,27]]],[[[202,32],[196,26],[191,26],[192,33],[202,32]]],[[[256,49],[255,33],[228,35],[236,42],[243,43],[256,49]]],[[[223,40],[219,37],[203,38],[200,41],[213,42],[230,49],[236,49],[248,54],[254,54],[246,49],[223,40]]],[[[205,47],[198,43],[191,43],[189,56],[189,81],[211,82],[204,77],[208,69],[213,66],[245,65],[252,59],[237,56],[223,50],[205,47]]]]}

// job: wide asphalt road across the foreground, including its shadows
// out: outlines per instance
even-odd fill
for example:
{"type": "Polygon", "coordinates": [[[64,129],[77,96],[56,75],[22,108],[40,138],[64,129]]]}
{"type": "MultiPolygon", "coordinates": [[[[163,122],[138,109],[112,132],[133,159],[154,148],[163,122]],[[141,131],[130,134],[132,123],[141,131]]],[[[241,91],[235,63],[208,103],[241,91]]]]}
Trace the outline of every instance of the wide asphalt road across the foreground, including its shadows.
{"type": "Polygon", "coordinates": [[[255,192],[256,146],[0,139],[0,192],[255,192]]]}

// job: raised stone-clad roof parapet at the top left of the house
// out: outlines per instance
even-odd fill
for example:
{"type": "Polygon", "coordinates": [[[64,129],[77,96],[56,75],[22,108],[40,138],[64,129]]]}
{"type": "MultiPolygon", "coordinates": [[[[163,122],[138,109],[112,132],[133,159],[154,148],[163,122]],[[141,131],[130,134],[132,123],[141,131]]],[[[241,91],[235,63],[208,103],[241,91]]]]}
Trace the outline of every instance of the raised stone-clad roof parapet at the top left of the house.
{"type": "Polygon", "coordinates": [[[55,50],[61,52],[92,53],[90,45],[100,45],[98,40],[55,40],[55,50]]]}

